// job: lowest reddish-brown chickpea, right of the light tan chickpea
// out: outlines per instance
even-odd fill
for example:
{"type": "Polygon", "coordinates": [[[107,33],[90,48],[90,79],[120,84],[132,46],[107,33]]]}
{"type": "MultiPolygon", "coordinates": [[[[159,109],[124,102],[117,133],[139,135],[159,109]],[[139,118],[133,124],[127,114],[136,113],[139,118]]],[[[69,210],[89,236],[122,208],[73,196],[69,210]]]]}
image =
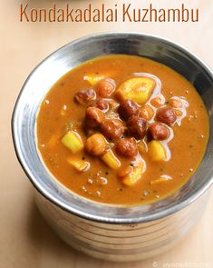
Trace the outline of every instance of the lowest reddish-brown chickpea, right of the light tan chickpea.
{"type": "Polygon", "coordinates": [[[138,154],[138,148],[135,141],[135,138],[124,138],[121,139],[118,144],[115,145],[117,154],[120,154],[124,157],[132,158],[138,154]]]}

